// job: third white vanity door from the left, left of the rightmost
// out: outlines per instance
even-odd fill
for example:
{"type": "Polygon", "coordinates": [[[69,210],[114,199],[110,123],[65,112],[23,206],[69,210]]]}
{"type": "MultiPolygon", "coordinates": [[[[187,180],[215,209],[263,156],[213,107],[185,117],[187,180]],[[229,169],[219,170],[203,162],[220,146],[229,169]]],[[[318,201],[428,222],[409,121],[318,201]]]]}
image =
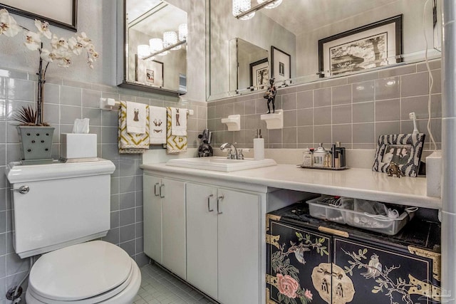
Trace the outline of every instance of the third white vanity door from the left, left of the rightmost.
{"type": "Polygon", "coordinates": [[[217,189],[187,183],[187,281],[217,298],[217,189]]]}

